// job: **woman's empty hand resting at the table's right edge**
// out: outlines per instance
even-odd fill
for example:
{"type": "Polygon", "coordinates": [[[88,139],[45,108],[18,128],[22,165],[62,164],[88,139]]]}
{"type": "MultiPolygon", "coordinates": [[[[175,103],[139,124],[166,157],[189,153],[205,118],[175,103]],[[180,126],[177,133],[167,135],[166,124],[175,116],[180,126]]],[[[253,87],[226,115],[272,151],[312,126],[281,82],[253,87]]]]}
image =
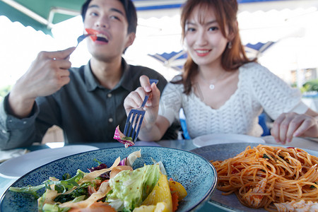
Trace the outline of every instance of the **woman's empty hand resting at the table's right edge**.
{"type": "Polygon", "coordinates": [[[271,135],[277,143],[292,141],[293,137],[298,136],[318,136],[317,116],[310,114],[317,114],[312,110],[308,110],[306,114],[297,114],[295,112],[281,114],[271,129],[271,135]]]}

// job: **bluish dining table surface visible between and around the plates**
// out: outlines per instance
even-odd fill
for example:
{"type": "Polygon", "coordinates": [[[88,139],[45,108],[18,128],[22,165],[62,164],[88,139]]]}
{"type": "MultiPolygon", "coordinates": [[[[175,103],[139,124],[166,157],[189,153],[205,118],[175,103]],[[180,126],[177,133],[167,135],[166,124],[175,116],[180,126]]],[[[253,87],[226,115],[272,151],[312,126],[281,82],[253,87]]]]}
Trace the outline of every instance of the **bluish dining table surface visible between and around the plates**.
{"type": "MultiPolygon", "coordinates": [[[[269,144],[277,144],[276,141],[273,139],[273,136],[264,136],[261,137],[266,143],[269,144]]],[[[79,143],[81,145],[89,145],[95,146],[96,148],[114,148],[114,147],[122,147],[123,144],[117,141],[113,142],[105,142],[105,143],[79,143]]],[[[76,145],[76,143],[71,144],[76,145]]],[[[293,139],[292,143],[288,143],[290,146],[294,147],[301,147],[307,148],[314,151],[318,151],[318,139],[307,139],[307,138],[295,138],[293,139]]],[[[28,147],[28,151],[38,151],[45,148],[59,148],[62,146],[70,146],[66,145],[63,142],[52,142],[52,143],[45,143],[45,144],[35,144],[33,146],[28,147]]],[[[179,140],[164,140],[164,141],[136,141],[135,146],[163,146],[168,148],[177,148],[184,151],[192,151],[195,148],[199,148],[195,145],[194,139],[179,139],[179,140]]],[[[0,163],[1,165],[1,163],[0,163]]],[[[8,189],[14,182],[16,182],[18,178],[16,177],[6,177],[1,175],[0,173],[0,196],[3,196],[8,189]]],[[[212,194],[213,196],[213,194],[212,194]]],[[[1,201],[1,199],[0,199],[1,201]]],[[[206,201],[196,211],[234,211],[229,208],[224,208],[218,204],[213,203],[212,201],[206,201]]]]}

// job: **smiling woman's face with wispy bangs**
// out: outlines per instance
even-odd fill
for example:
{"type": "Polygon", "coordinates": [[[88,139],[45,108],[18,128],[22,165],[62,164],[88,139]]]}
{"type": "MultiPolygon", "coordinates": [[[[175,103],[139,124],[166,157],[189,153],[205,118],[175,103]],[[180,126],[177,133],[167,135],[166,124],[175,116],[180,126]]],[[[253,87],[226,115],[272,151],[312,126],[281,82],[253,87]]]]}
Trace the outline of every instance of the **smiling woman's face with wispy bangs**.
{"type": "Polygon", "coordinates": [[[212,8],[194,8],[185,24],[184,43],[198,66],[220,64],[228,39],[223,36],[212,8]]]}

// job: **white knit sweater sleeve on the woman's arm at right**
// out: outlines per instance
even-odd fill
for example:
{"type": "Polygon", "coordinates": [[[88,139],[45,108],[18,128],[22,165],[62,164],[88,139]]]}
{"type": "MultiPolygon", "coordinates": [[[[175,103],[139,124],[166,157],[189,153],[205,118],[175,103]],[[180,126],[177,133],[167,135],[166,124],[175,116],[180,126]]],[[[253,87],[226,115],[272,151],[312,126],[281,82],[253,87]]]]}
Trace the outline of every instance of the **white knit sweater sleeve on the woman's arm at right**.
{"type": "Polygon", "coordinates": [[[259,64],[247,64],[254,98],[261,103],[271,119],[277,119],[283,112],[305,113],[308,107],[302,102],[298,88],[291,88],[281,78],[259,64]]]}

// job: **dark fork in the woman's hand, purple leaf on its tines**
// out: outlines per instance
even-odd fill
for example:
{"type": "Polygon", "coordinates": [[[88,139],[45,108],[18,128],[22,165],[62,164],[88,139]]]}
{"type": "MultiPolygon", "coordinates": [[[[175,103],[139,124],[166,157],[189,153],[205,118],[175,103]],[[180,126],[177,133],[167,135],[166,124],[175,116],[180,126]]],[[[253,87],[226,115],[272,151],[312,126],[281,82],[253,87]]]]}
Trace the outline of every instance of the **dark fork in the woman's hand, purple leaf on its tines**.
{"type": "MultiPolygon", "coordinates": [[[[156,79],[150,79],[150,83],[158,83],[158,80],[156,79]]],[[[136,142],[139,130],[141,128],[141,124],[143,122],[143,117],[145,116],[146,110],[143,110],[143,107],[145,107],[146,102],[149,98],[149,95],[145,96],[145,99],[143,100],[143,103],[141,104],[141,107],[131,109],[131,111],[128,114],[125,129],[124,129],[124,135],[126,137],[131,137],[131,141],[136,142]],[[128,131],[128,134],[127,134],[128,131]]]]}

